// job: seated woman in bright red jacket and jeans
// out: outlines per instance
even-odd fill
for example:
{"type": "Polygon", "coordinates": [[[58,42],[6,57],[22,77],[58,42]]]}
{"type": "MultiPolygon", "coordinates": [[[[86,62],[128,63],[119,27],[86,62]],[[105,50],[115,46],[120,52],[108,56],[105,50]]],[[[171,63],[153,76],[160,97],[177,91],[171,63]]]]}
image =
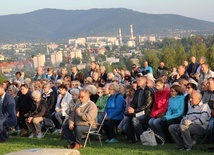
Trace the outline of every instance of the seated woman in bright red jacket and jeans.
{"type": "Polygon", "coordinates": [[[160,122],[168,108],[170,90],[168,87],[165,86],[164,81],[162,79],[157,79],[155,81],[155,85],[157,91],[154,93],[154,104],[151,111],[151,119],[149,120],[149,126],[156,134],[163,136],[164,133],[161,133],[162,127],[160,125],[160,122]]]}

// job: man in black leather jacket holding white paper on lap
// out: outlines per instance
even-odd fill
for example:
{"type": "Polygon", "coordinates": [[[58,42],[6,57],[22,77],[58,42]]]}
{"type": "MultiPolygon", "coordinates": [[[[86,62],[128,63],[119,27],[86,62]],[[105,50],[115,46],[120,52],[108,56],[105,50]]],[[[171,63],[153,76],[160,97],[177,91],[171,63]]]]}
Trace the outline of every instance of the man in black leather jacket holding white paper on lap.
{"type": "Polygon", "coordinates": [[[141,76],[137,79],[138,89],[135,91],[133,100],[128,108],[129,117],[126,122],[126,134],[129,142],[135,142],[135,135],[140,140],[140,135],[143,133],[145,126],[150,117],[150,108],[153,102],[152,93],[146,86],[147,78],[141,76]]]}

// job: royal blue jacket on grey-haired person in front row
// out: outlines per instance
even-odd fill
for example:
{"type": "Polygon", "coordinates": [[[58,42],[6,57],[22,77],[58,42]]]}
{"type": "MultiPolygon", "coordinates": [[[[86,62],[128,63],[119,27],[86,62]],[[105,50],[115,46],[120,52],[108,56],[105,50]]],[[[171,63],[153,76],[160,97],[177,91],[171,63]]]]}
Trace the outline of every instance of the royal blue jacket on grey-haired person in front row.
{"type": "Polygon", "coordinates": [[[119,93],[111,95],[106,103],[105,112],[109,119],[122,120],[125,111],[125,100],[119,93]]]}

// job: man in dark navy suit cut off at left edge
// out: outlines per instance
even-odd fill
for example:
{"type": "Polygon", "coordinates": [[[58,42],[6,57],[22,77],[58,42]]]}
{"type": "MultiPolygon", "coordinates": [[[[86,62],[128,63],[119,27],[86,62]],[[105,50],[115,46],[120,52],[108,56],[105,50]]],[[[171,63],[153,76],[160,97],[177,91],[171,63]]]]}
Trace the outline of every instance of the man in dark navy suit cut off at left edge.
{"type": "Polygon", "coordinates": [[[0,85],[0,142],[7,142],[7,128],[15,126],[16,123],[15,100],[0,85]]]}

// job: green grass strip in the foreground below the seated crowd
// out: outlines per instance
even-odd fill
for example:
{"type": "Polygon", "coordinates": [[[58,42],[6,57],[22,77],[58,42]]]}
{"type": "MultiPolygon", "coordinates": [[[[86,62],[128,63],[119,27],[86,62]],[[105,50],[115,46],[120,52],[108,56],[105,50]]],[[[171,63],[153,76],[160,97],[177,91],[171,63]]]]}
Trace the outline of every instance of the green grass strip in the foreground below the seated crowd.
{"type": "MultiPolygon", "coordinates": [[[[81,155],[203,155],[208,154],[203,151],[202,145],[196,145],[192,151],[178,151],[175,144],[165,144],[158,146],[142,146],[140,142],[126,144],[120,137],[120,142],[115,144],[103,143],[101,147],[99,141],[92,139],[91,145],[88,143],[86,148],[80,149],[81,155]]],[[[48,134],[42,139],[29,139],[27,137],[10,136],[8,143],[0,144],[0,155],[5,153],[30,149],[30,148],[65,148],[66,140],[59,140],[59,135],[48,134]]]]}

